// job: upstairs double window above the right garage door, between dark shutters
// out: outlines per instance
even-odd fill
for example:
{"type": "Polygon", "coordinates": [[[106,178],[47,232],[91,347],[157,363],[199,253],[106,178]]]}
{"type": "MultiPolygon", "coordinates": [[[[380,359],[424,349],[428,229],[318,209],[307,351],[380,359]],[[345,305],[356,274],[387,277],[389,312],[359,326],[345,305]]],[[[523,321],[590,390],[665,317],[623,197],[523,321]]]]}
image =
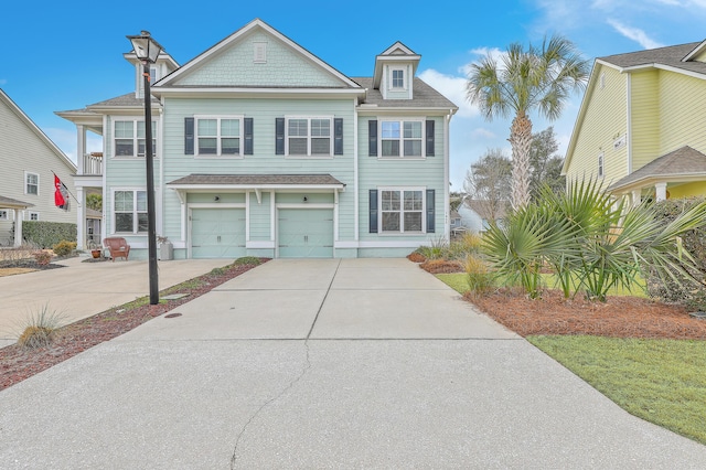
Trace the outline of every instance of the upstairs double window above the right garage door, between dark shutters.
{"type": "Polygon", "coordinates": [[[331,156],[331,118],[288,118],[287,154],[290,156],[331,156]]]}

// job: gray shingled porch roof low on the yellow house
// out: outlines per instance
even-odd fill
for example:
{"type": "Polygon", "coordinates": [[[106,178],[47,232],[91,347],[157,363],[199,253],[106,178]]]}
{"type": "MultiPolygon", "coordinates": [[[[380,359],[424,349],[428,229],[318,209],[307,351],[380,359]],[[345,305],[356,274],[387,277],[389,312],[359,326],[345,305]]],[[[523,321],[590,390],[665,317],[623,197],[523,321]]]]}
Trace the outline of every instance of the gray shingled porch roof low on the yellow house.
{"type": "Polygon", "coordinates": [[[684,174],[706,174],[706,154],[685,146],[662,156],[625,178],[611,184],[608,191],[614,191],[648,178],[678,177],[684,174]]]}

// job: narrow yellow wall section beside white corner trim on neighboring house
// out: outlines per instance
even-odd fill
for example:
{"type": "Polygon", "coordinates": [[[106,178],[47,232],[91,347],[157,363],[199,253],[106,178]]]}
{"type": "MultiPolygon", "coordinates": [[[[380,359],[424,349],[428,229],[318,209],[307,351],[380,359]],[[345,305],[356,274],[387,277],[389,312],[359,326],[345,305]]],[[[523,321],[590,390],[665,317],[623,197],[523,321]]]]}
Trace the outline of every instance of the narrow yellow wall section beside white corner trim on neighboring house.
{"type": "Polygon", "coordinates": [[[660,153],[660,72],[630,75],[632,171],[650,163],[660,153]]]}

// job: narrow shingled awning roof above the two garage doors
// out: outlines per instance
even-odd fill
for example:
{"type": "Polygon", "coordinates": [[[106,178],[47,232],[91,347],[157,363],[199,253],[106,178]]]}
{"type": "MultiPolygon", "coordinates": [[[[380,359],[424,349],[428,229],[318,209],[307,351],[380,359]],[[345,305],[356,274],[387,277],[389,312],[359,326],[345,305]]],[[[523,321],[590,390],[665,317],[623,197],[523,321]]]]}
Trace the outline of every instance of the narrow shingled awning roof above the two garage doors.
{"type": "Polygon", "coordinates": [[[190,174],[168,185],[218,184],[218,185],[341,185],[330,174],[190,174]]]}

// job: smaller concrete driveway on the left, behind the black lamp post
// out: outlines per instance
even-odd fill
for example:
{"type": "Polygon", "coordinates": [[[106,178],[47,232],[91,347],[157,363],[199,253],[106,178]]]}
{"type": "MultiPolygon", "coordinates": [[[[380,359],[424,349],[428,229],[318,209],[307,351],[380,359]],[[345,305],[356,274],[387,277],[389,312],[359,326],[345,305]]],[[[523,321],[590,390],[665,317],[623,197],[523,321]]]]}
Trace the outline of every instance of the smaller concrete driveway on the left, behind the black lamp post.
{"type": "MultiPolygon", "coordinates": [[[[45,306],[71,323],[115,306],[149,296],[147,260],[58,261],[64,268],[0,277],[0,348],[17,341],[22,321],[45,306]]],[[[159,289],[227,265],[224,259],[158,261],[159,289]]]]}

